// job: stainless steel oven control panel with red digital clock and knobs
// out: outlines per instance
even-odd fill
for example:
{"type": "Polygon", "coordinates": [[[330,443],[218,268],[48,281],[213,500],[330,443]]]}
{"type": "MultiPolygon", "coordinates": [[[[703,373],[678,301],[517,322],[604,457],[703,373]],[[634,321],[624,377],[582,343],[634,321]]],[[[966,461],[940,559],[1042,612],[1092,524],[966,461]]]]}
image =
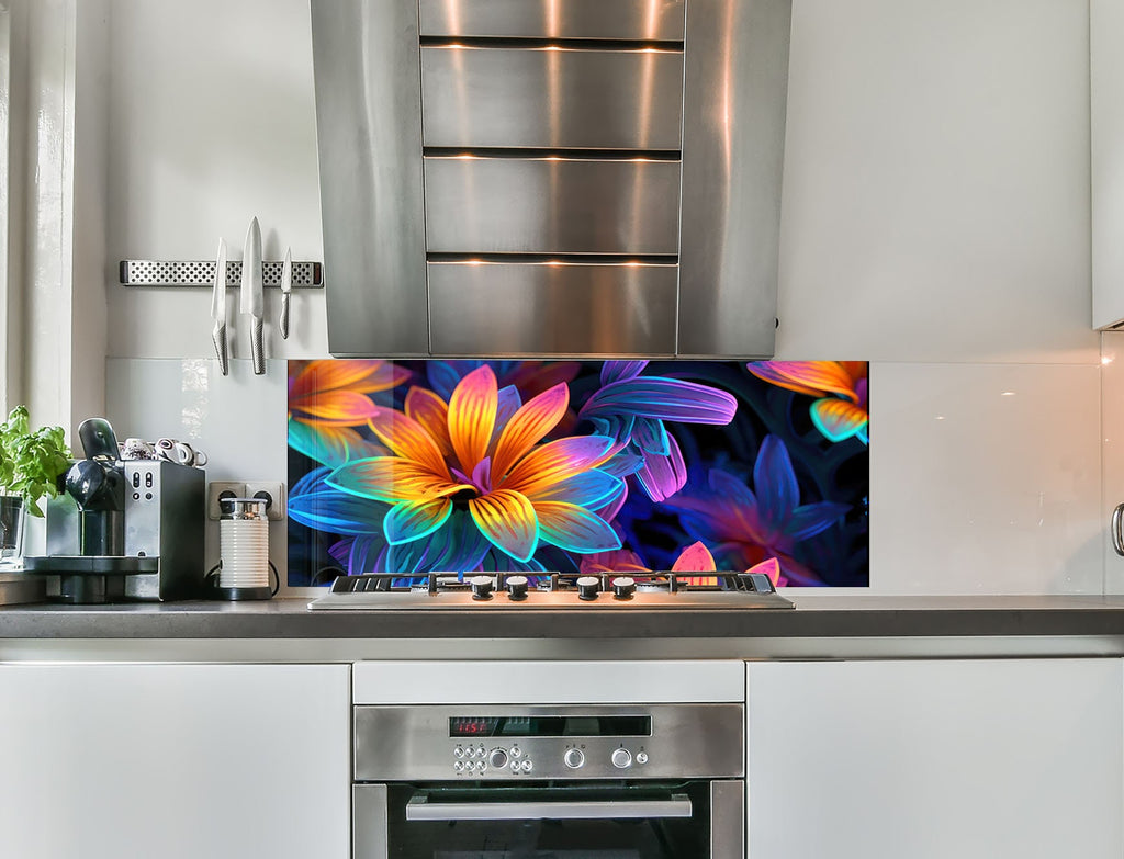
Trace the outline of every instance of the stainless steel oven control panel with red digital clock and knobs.
{"type": "Polygon", "coordinates": [[[741,704],[354,707],[356,780],[740,778],[741,704]]]}

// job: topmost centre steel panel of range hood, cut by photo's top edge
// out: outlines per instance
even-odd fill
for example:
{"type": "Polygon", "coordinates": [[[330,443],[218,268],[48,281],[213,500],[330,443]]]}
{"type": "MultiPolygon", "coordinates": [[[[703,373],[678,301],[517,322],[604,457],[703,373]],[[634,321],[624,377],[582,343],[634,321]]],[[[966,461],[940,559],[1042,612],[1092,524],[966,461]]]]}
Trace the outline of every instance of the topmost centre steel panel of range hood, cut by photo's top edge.
{"type": "Polygon", "coordinates": [[[420,0],[423,36],[681,42],[683,0],[420,0]]]}

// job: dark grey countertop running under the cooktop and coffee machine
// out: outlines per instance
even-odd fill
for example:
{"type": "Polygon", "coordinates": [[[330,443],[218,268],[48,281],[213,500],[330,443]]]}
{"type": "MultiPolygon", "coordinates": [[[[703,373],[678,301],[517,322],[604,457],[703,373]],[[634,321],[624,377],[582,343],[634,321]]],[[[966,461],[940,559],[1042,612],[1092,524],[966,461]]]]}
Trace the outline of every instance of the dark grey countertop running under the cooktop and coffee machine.
{"type": "Polygon", "coordinates": [[[31,604],[0,609],[0,640],[1124,638],[1124,596],[786,595],[795,611],[311,612],[307,597],[31,604]]]}

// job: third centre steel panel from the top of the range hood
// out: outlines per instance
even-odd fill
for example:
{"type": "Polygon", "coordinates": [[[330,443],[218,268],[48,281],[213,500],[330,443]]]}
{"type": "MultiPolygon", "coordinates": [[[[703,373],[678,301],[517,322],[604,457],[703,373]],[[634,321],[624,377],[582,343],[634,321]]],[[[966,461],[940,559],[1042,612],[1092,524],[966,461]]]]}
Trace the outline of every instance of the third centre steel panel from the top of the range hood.
{"type": "Polygon", "coordinates": [[[461,254],[677,254],[679,164],[426,158],[426,246],[461,254]]]}

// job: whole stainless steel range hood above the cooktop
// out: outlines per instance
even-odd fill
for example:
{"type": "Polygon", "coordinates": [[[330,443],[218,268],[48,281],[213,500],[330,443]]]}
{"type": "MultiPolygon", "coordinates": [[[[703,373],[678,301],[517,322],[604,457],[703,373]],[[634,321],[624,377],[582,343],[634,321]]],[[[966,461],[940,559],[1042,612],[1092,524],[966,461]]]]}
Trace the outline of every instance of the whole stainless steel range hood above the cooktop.
{"type": "Polygon", "coordinates": [[[311,12],[334,355],[772,355],[791,0],[311,12]]]}

